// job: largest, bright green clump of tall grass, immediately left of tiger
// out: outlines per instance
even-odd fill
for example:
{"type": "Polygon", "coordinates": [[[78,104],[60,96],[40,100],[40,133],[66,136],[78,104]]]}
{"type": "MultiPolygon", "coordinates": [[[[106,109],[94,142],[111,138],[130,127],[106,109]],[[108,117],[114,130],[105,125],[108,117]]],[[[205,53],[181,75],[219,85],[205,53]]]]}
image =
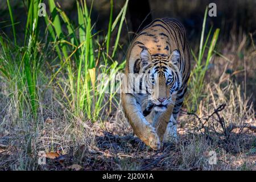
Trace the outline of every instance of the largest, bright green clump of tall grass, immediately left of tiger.
{"type": "MultiPolygon", "coordinates": [[[[97,90],[96,88],[105,90],[109,88],[98,86],[101,82],[96,82],[96,77],[100,73],[108,74],[110,78],[114,77],[114,75],[110,74],[110,68],[117,72],[123,67],[123,64],[121,64],[122,67],[119,67],[117,61],[113,60],[115,51],[118,49],[119,35],[125,20],[127,3],[128,1],[125,2],[117,18],[112,23],[113,1],[110,1],[109,28],[103,42],[100,43],[98,38],[102,35],[99,35],[98,32],[96,34],[92,33],[94,24],[92,24],[90,15],[93,2],[90,9],[88,9],[86,1],[77,1],[79,24],[75,25],[70,22],[68,16],[60,7],[56,7],[53,0],[49,0],[51,15],[46,16],[46,22],[59,59],[64,60],[49,83],[51,84],[53,80],[59,82],[57,75],[61,71],[68,72],[69,91],[64,95],[67,96],[69,106],[77,116],[86,116],[86,118],[95,121],[108,102],[110,103],[109,110],[111,110],[111,102],[115,93],[109,93],[110,99],[107,100],[105,91],[102,92],[102,90],[97,90]],[[50,16],[52,19],[49,18],[50,16]],[[117,38],[115,39],[112,56],[109,56],[111,35],[118,23],[117,38]],[[63,25],[67,28],[68,35],[65,35],[63,25]],[[77,31],[79,33],[78,38],[76,36],[77,31]],[[67,55],[67,52],[70,52],[69,55],[67,55]],[[72,61],[75,64],[71,64],[72,61]],[[69,94],[71,97],[69,97],[69,94]]],[[[61,84],[58,84],[58,86],[61,88],[61,84]]],[[[61,88],[61,90],[64,89],[61,88]]]]}

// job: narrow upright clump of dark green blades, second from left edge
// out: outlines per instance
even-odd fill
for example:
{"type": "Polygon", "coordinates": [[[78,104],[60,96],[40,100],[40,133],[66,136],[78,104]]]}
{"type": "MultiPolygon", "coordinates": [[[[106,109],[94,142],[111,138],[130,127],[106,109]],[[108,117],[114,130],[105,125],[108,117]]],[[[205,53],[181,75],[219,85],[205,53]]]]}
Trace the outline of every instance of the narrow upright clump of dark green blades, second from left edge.
{"type": "MultiPolygon", "coordinates": [[[[36,89],[36,82],[37,82],[37,72],[40,67],[40,56],[38,52],[38,5],[41,1],[27,1],[28,12],[27,12],[27,23],[24,32],[24,44],[18,45],[16,40],[16,31],[15,31],[15,20],[13,16],[13,9],[10,6],[9,0],[7,0],[7,6],[10,13],[11,19],[11,26],[14,35],[14,44],[15,48],[11,49],[9,46],[6,45],[3,38],[1,39],[2,51],[14,51],[16,56],[21,56],[20,60],[14,61],[7,60],[5,65],[2,65],[2,72],[12,72],[11,69],[15,70],[16,77],[20,77],[22,80],[22,84],[18,84],[21,87],[18,88],[19,90],[23,90],[22,86],[25,86],[28,90],[27,100],[31,107],[31,111],[36,116],[36,112],[38,110],[38,97],[37,97],[37,89],[36,89]],[[5,50],[4,50],[5,49],[5,50]],[[8,66],[7,66],[8,65],[8,66]],[[7,68],[6,68],[7,66],[7,68]],[[25,76],[23,78],[23,75],[25,76]],[[26,82],[26,83],[25,83],[26,82]]],[[[10,40],[9,40],[10,41],[10,40]]],[[[7,56],[7,55],[5,55],[7,56]]],[[[11,57],[4,57],[3,59],[11,59],[11,57]]],[[[18,79],[20,80],[20,79],[18,79]]]]}

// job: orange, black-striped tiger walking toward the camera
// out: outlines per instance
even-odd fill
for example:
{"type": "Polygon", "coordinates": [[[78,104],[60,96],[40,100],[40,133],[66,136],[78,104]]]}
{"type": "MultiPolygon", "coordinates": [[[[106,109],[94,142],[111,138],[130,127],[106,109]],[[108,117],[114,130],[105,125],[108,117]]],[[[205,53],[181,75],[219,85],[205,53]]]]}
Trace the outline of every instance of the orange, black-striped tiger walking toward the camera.
{"type": "Polygon", "coordinates": [[[153,150],[177,142],[190,72],[191,49],[176,19],[153,20],[127,49],[122,107],[134,134],[153,150]]]}

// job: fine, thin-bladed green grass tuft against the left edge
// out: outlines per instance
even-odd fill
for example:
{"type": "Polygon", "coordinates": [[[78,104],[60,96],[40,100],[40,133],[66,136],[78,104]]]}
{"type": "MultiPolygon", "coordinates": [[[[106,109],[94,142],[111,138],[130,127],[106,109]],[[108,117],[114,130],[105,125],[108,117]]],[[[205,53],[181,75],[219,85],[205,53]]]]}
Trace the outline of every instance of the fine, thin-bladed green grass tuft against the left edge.
{"type": "Polygon", "coordinates": [[[22,54],[17,53],[14,44],[10,43],[11,40],[7,36],[0,36],[0,81],[1,86],[3,80],[7,82],[6,87],[3,88],[9,91],[9,98],[15,100],[16,118],[21,118],[25,109],[24,105],[30,105],[30,97],[27,92],[26,74],[20,71],[20,63],[22,54]],[[3,79],[3,80],[2,80],[3,79]]]}

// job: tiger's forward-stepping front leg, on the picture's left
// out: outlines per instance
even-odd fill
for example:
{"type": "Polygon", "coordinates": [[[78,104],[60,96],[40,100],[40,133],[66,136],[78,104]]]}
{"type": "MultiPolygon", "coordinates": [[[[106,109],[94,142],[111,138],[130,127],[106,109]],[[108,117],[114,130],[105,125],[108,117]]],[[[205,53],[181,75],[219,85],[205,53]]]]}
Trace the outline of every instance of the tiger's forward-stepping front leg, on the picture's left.
{"type": "Polygon", "coordinates": [[[140,106],[132,94],[122,93],[122,105],[134,133],[147,146],[159,150],[160,142],[154,127],[144,118],[140,106]]]}

